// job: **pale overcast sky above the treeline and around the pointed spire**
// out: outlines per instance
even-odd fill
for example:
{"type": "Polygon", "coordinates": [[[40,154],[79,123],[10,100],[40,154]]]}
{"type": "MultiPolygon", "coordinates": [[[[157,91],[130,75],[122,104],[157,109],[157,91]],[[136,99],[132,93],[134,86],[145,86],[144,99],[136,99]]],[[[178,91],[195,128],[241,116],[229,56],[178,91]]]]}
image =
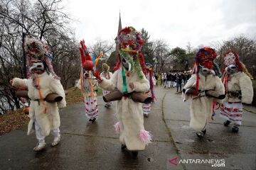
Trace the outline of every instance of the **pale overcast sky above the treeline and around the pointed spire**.
{"type": "Polygon", "coordinates": [[[119,11],[122,27],[146,29],[151,40],[164,39],[170,47],[210,45],[245,34],[256,38],[256,0],[66,0],[65,9],[78,20],[76,37],[93,43],[113,40],[119,11]]]}

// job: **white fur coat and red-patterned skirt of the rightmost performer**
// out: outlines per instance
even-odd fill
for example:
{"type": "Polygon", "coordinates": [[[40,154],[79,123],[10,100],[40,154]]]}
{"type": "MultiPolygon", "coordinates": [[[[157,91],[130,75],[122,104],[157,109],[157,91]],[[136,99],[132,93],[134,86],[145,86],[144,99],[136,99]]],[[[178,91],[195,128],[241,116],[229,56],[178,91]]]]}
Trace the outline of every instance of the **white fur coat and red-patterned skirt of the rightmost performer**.
{"type": "MultiPolygon", "coordinates": [[[[225,82],[225,79],[224,81],[225,82]]],[[[229,120],[237,125],[242,124],[242,103],[250,104],[253,98],[252,81],[243,72],[230,75],[228,91],[241,91],[242,98],[227,96],[221,105],[220,117],[229,120]]]]}

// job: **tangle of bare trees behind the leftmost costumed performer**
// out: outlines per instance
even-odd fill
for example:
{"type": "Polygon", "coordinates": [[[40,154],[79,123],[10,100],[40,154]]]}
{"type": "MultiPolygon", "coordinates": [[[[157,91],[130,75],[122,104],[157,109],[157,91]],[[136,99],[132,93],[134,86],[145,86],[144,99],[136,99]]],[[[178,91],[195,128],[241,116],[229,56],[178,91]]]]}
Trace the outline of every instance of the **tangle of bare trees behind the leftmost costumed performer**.
{"type": "Polygon", "coordinates": [[[56,72],[70,86],[79,72],[78,44],[60,7],[62,0],[0,0],[0,112],[20,107],[9,84],[13,77],[24,78],[22,33],[37,35],[48,42],[56,72]],[[57,40],[58,39],[58,40],[57,40]],[[74,79],[73,79],[74,78],[74,79]]]}

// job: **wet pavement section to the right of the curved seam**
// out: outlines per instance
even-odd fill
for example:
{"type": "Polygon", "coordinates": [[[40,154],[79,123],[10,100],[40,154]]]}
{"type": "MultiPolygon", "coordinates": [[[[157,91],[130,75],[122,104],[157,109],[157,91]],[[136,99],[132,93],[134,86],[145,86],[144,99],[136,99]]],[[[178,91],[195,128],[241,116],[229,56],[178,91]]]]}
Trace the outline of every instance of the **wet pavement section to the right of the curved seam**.
{"type": "Polygon", "coordinates": [[[164,98],[164,118],[179,156],[181,159],[214,159],[213,162],[224,159],[225,166],[193,162],[184,164],[186,169],[256,169],[255,113],[244,111],[242,126],[238,133],[233,133],[233,125],[225,127],[223,118],[216,111],[214,120],[208,125],[206,136],[199,139],[196,132],[189,128],[189,106],[190,101],[184,103],[181,94],[176,94],[176,89],[170,89],[164,98]]]}

